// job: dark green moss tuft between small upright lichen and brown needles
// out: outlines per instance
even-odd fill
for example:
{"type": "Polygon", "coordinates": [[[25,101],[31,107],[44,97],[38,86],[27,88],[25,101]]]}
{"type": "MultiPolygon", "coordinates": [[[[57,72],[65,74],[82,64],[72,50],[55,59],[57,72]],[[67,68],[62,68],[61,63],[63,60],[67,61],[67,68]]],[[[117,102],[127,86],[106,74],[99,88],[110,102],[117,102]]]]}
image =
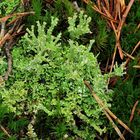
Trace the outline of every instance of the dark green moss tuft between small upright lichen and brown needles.
{"type": "MultiPolygon", "coordinates": [[[[90,28],[91,35],[95,38],[95,47],[92,48],[94,54],[99,54],[98,60],[106,63],[107,59],[112,55],[115,46],[115,35],[109,29],[105,19],[99,13],[93,10],[91,5],[86,6],[87,14],[92,17],[90,28]]],[[[90,36],[88,38],[90,38],[90,36]]]]}

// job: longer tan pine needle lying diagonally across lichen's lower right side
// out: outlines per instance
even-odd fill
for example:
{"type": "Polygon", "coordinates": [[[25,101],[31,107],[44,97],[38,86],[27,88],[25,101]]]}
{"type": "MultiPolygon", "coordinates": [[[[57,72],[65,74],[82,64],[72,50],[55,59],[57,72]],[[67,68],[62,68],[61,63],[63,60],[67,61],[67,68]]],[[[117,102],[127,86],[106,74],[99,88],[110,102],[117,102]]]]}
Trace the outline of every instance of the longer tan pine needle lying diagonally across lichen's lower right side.
{"type": "Polygon", "coordinates": [[[118,119],[109,110],[109,108],[104,105],[103,101],[94,93],[94,91],[93,91],[92,87],[90,86],[90,84],[87,81],[84,81],[84,83],[88,87],[88,89],[90,90],[90,92],[92,93],[92,95],[95,98],[95,100],[97,101],[97,103],[103,108],[103,111],[105,112],[105,114],[107,113],[110,117],[112,117],[114,120],[116,120],[121,126],[123,126],[127,131],[129,131],[130,133],[133,133],[132,130],[130,130],[129,127],[126,124],[124,124],[120,119],[118,119]]]}

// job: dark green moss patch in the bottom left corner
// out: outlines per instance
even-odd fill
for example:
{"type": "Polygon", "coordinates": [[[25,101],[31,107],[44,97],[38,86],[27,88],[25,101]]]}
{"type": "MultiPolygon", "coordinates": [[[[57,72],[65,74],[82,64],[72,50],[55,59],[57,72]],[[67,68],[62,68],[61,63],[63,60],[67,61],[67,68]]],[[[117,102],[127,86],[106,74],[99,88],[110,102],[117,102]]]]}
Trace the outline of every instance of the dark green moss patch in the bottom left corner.
{"type": "Polygon", "coordinates": [[[7,106],[4,107],[3,105],[0,105],[0,109],[0,124],[3,125],[3,127],[6,128],[7,132],[11,135],[11,137],[8,138],[7,135],[5,135],[5,133],[3,133],[0,129],[0,139],[16,140],[25,127],[27,127],[27,124],[29,123],[28,120],[23,116],[20,118],[16,117],[14,113],[8,113],[9,111],[7,106]]]}

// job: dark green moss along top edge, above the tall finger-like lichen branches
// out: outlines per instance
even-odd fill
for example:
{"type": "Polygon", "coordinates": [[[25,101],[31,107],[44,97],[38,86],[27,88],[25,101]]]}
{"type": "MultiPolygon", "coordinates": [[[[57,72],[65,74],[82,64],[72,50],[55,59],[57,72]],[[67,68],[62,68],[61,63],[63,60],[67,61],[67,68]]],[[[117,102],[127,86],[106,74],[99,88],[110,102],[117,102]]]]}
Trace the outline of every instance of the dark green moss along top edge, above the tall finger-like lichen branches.
{"type": "Polygon", "coordinates": [[[74,6],[69,0],[56,0],[53,4],[43,0],[32,0],[31,8],[35,12],[35,15],[28,17],[27,24],[30,23],[30,25],[35,25],[36,21],[40,21],[41,23],[47,22],[49,24],[52,15],[59,17],[60,22],[64,25],[67,17],[74,14],[74,6]]]}

